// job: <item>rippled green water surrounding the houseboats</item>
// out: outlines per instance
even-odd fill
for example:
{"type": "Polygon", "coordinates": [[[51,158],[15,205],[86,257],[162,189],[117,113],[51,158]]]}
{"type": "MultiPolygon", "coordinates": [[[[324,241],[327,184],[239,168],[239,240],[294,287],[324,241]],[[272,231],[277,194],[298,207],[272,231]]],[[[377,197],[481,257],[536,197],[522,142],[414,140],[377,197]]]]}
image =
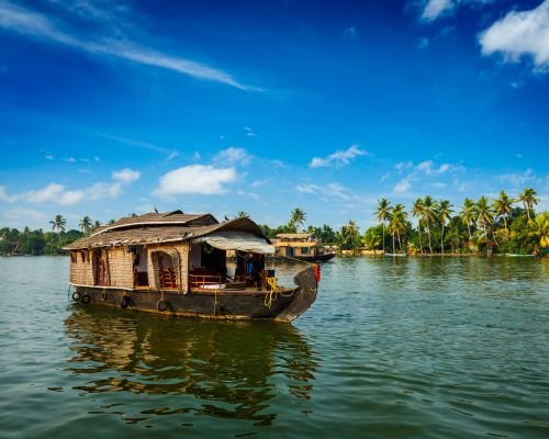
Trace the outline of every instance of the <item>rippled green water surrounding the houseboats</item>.
{"type": "Polygon", "coordinates": [[[64,257],[0,274],[1,438],[549,437],[547,259],[336,259],[292,325],[83,307],[64,257]]]}

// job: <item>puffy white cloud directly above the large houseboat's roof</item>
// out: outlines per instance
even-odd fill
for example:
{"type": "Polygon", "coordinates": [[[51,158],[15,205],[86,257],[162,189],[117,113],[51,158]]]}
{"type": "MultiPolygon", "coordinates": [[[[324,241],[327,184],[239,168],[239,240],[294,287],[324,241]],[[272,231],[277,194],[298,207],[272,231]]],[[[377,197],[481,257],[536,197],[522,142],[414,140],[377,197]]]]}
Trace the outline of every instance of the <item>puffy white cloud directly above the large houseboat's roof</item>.
{"type": "Polygon", "coordinates": [[[190,165],[163,176],[160,184],[154,193],[159,196],[187,193],[220,194],[226,192],[225,185],[235,181],[237,175],[234,168],[190,165]]]}

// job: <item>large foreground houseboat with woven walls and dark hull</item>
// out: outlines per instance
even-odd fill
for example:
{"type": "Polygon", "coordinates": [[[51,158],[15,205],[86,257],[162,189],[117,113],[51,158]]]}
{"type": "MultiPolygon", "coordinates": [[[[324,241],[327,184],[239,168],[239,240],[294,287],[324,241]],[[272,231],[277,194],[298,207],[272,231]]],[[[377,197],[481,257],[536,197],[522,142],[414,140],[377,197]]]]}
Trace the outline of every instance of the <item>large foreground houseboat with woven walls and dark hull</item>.
{"type": "Polygon", "coordinates": [[[124,217],[67,247],[72,300],[181,316],[291,322],[316,299],[320,268],[281,286],[274,246],[247,217],[181,211],[124,217]],[[237,255],[227,263],[226,252],[237,255]]]}

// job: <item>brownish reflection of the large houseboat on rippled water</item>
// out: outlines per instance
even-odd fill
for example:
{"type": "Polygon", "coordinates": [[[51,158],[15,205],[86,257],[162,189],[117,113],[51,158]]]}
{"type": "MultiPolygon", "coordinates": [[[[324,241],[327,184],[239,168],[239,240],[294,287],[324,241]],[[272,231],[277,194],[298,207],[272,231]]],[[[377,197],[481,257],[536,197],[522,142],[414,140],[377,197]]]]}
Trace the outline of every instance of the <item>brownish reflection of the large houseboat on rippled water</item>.
{"type": "Polygon", "coordinates": [[[317,368],[291,325],[75,307],[66,330],[74,340],[74,389],[101,394],[93,413],[130,424],[176,415],[178,425],[192,426],[205,415],[271,425],[281,406],[306,403],[317,368]]]}

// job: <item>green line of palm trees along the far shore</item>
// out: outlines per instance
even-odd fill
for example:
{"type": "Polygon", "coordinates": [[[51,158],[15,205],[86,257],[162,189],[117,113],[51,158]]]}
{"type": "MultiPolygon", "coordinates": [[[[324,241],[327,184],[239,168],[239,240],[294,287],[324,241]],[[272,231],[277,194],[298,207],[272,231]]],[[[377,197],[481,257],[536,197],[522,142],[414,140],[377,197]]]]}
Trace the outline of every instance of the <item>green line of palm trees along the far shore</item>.
{"type": "MultiPolygon", "coordinates": [[[[312,233],[324,245],[351,252],[366,248],[393,254],[484,254],[491,248],[501,254],[534,254],[541,247],[549,248],[549,213],[536,214],[538,202],[537,192],[531,188],[525,188],[516,199],[505,191],[492,201],[486,196],[477,201],[466,198],[459,206],[425,195],[415,200],[410,211],[403,204],[381,199],[376,210],[379,224],[363,234],[356,221],[349,221],[339,229],[327,224],[305,228],[306,213],[300,207],[291,211],[287,224],[277,227],[265,224],[261,228],[269,238],[278,234],[312,233]]],[[[243,211],[236,215],[247,216],[243,211]]],[[[89,216],[81,218],[80,230],[67,232],[61,215],[56,215],[49,224],[51,232],[1,228],[0,254],[59,255],[64,246],[101,226],[89,216]]]]}

